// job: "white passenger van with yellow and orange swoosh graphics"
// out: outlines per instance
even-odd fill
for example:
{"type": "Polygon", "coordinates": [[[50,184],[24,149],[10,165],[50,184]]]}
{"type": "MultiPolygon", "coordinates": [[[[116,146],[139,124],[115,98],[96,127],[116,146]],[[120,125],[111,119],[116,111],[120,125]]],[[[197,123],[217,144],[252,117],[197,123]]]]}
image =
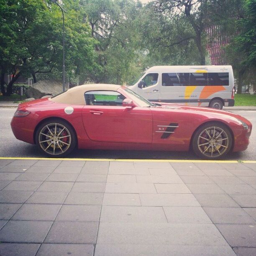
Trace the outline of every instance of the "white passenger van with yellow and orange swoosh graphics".
{"type": "Polygon", "coordinates": [[[157,102],[217,109],[235,103],[231,66],[155,66],[129,89],[157,102]]]}

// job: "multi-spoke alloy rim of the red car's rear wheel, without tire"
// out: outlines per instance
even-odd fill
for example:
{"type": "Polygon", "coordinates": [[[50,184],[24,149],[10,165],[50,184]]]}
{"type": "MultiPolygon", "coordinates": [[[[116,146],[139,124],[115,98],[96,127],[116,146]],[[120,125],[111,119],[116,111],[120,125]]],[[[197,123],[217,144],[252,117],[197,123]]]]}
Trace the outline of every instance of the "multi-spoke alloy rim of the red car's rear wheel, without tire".
{"type": "Polygon", "coordinates": [[[46,153],[59,155],[69,149],[71,135],[66,126],[60,123],[49,123],[39,132],[38,142],[46,153]]]}

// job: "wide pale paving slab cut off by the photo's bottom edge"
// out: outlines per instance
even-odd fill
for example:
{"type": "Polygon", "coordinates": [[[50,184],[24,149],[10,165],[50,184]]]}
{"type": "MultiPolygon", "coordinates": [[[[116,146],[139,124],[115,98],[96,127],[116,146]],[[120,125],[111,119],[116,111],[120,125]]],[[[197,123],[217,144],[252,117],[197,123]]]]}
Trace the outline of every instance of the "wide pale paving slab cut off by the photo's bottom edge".
{"type": "Polygon", "coordinates": [[[95,256],[236,256],[230,246],[97,244],[95,256]]]}

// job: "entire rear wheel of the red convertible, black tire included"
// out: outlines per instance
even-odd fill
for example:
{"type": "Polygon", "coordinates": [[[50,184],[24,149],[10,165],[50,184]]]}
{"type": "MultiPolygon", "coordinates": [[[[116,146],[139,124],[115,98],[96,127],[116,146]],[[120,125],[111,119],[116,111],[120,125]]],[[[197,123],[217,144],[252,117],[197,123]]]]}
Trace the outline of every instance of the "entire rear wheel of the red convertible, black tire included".
{"type": "Polygon", "coordinates": [[[36,130],[36,145],[50,157],[70,154],[77,145],[74,128],[64,120],[50,119],[41,123],[36,130]]]}

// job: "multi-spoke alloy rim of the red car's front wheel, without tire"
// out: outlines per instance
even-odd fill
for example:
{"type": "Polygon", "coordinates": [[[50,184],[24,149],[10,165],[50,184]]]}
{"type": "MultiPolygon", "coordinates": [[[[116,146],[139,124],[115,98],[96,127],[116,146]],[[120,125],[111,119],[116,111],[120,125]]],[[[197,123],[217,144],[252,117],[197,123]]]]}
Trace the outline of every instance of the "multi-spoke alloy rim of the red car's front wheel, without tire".
{"type": "Polygon", "coordinates": [[[197,146],[201,153],[211,158],[223,155],[228,145],[228,134],[218,126],[205,128],[197,139],[197,146]]]}

